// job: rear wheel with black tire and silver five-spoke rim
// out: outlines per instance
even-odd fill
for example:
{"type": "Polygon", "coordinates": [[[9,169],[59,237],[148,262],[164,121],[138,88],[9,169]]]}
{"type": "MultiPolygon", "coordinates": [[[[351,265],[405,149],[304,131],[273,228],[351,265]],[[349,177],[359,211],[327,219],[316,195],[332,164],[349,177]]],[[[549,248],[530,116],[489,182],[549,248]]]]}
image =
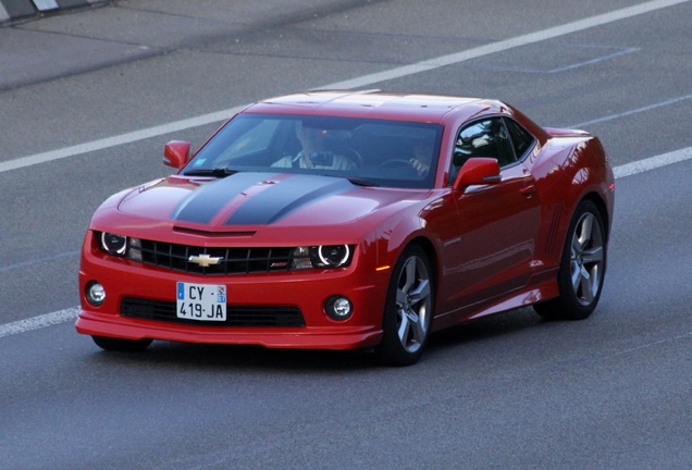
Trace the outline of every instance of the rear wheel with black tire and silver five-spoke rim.
{"type": "Polygon", "coordinates": [[[572,218],[557,274],[559,297],[533,306],[547,320],[583,320],[596,308],[607,259],[603,215],[591,200],[583,200],[572,218]]]}

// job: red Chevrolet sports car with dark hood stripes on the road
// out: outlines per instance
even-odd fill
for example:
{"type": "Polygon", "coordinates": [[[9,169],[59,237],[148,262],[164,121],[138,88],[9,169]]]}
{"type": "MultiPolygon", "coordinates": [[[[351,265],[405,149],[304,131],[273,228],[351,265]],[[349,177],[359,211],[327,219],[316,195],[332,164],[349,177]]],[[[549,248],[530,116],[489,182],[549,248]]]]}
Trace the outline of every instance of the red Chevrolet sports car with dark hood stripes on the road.
{"type": "Polygon", "coordinates": [[[431,332],[533,305],[584,319],[601,296],[614,177],[600,140],[501,101],[382,91],[269,99],[177,173],[126,189],[84,240],[79,333],[374,348],[416,362],[431,332]]]}

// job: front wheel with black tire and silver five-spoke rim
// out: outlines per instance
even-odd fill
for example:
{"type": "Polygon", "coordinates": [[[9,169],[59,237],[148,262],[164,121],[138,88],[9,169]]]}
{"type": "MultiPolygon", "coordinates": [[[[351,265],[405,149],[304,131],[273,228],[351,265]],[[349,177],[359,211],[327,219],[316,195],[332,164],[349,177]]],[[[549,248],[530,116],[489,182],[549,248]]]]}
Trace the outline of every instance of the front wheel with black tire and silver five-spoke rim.
{"type": "Polygon", "coordinates": [[[434,306],[434,286],[428,256],[417,245],[407,247],[392,271],[382,319],[380,363],[411,366],[423,354],[434,306]]]}

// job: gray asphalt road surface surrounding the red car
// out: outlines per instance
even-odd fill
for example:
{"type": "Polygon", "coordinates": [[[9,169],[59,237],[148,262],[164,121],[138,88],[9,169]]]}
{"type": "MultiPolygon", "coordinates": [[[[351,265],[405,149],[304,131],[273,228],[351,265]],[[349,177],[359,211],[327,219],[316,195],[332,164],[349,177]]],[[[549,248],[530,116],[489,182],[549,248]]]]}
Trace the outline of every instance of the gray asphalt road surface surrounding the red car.
{"type": "Polygon", "coordinates": [[[659,156],[692,147],[692,4],[667,3],[133,0],[0,28],[0,468],[691,468],[692,161],[659,156]],[[165,174],[165,141],[344,81],[497,97],[620,169],[654,157],[617,180],[596,313],[481,319],[406,369],[32,330],[78,304],[90,214],[165,174]]]}

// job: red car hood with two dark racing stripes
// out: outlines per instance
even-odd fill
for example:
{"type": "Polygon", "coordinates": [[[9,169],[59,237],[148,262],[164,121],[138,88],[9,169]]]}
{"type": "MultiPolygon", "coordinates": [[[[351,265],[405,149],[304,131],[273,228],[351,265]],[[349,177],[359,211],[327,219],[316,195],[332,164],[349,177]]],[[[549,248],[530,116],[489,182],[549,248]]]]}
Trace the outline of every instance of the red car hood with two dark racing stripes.
{"type": "Polygon", "coordinates": [[[174,175],[128,193],[118,210],[151,222],[166,221],[177,228],[210,232],[334,226],[385,207],[410,206],[424,193],[361,187],[345,178],[318,175],[246,172],[218,180],[174,175]]]}

